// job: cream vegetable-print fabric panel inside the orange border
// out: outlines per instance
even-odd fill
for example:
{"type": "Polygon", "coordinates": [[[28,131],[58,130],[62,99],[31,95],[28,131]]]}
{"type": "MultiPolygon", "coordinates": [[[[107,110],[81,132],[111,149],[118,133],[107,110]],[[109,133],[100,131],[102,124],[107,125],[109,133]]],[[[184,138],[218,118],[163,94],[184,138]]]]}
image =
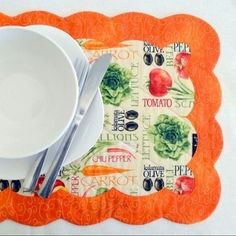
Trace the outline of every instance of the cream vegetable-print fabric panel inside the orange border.
{"type": "Polygon", "coordinates": [[[190,193],[194,176],[187,163],[197,135],[186,115],[194,88],[186,66],[188,45],[164,49],[144,41],[107,47],[80,40],[90,61],[104,53],[113,60],[100,86],[104,130],[97,144],[77,162],[63,168],[60,179],[79,196],[96,196],[112,187],[142,196],[166,187],[190,193]]]}

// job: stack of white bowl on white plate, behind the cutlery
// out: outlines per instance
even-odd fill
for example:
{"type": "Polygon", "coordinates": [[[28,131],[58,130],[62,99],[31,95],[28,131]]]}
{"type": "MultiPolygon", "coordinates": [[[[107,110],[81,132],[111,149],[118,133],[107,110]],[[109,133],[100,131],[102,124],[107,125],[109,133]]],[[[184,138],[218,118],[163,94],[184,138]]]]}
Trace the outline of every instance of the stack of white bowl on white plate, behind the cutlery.
{"type": "MultiPolygon", "coordinates": [[[[53,161],[76,114],[89,62],[67,33],[45,25],[0,28],[0,179],[23,179],[38,153],[53,161]]],[[[80,158],[103,127],[98,91],[64,165],[80,158]]]]}

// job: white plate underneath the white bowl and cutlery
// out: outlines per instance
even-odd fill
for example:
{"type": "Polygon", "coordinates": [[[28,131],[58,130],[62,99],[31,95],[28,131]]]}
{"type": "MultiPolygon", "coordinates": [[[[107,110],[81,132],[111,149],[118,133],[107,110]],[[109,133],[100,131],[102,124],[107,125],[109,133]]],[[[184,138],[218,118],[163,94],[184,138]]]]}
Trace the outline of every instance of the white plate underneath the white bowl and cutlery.
{"type": "MultiPolygon", "coordinates": [[[[60,46],[66,50],[66,53],[69,57],[74,55],[72,60],[76,61],[76,56],[81,54],[81,48],[77,45],[76,41],[70,37],[65,32],[49,26],[31,26],[34,30],[37,30],[37,27],[42,32],[42,28],[45,28],[45,33],[47,31],[48,37],[52,37],[60,46]],[[76,47],[74,47],[74,46],[76,47]]],[[[73,145],[68,153],[67,159],[65,160],[64,165],[69,164],[72,161],[80,158],[85,154],[97,141],[100,133],[103,129],[103,120],[104,120],[104,108],[102,103],[102,97],[100,91],[97,93],[94,101],[86,114],[85,119],[81,123],[79,132],[77,133],[73,145]]],[[[57,142],[56,145],[58,145],[57,142]]],[[[54,148],[56,148],[54,145],[54,148]]],[[[53,153],[53,149],[50,148],[50,153],[53,153]]],[[[43,167],[42,173],[50,166],[53,155],[47,156],[45,165],[43,167]]],[[[33,162],[36,160],[37,156],[26,157],[22,159],[4,159],[0,158],[0,178],[2,179],[23,179],[33,162]]]]}

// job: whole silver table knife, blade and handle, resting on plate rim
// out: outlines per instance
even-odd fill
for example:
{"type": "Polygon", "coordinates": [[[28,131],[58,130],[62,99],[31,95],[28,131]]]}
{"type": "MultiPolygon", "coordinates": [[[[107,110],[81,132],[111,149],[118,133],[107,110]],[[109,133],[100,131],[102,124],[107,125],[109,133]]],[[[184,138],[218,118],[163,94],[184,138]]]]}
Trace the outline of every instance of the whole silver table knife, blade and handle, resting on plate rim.
{"type": "Polygon", "coordinates": [[[69,152],[72,141],[76,132],[78,131],[81,121],[83,120],[84,115],[86,114],[97,93],[97,89],[99,88],[103,76],[107,71],[107,68],[111,62],[111,58],[111,54],[104,54],[93,63],[93,66],[84,82],[84,86],[81,91],[75,119],[73,120],[68,132],[64,136],[61,144],[62,146],[57,152],[55,159],[45,176],[42,186],[38,191],[39,196],[47,198],[51,194],[63,161],[69,152]]]}

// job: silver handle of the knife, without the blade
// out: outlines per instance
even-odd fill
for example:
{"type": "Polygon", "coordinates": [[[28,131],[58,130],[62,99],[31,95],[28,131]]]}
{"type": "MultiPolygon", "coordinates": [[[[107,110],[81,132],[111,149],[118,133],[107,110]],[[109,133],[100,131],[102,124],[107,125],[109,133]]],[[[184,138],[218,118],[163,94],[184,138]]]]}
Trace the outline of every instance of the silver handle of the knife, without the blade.
{"type": "Polygon", "coordinates": [[[47,198],[51,194],[54,187],[54,183],[57,179],[62,163],[68,154],[68,151],[76,134],[78,126],[79,126],[78,122],[73,122],[70,132],[68,132],[68,135],[64,137],[64,140],[62,142],[63,145],[62,151],[56,155],[50,169],[48,170],[48,173],[43,181],[43,184],[38,191],[39,196],[47,198]]]}

